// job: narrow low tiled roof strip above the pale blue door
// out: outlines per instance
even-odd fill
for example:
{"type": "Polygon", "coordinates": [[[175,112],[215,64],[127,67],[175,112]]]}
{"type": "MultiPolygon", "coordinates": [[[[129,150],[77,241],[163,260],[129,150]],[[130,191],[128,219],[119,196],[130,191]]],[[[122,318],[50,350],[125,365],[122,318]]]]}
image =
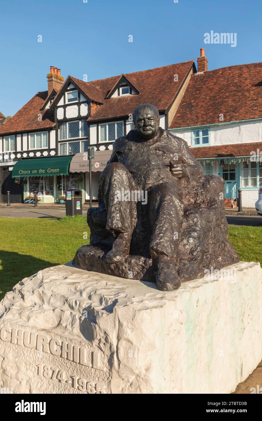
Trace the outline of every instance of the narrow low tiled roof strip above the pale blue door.
{"type": "Polygon", "coordinates": [[[245,157],[249,156],[251,151],[257,152],[257,149],[262,153],[262,141],[190,148],[195,158],[245,157]]]}

